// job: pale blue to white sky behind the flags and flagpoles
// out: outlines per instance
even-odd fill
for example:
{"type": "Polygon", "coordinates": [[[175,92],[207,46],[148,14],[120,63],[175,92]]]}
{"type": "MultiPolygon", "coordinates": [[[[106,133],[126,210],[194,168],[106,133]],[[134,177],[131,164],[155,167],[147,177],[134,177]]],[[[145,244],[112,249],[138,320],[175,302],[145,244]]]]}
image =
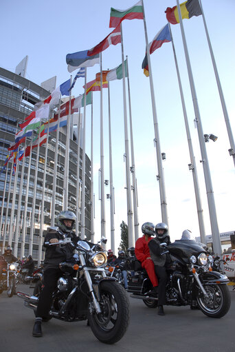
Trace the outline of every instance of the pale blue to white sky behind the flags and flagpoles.
{"type": "MultiPolygon", "coordinates": [[[[26,78],[40,85],[56,76],[56,86],[69,79],[65,57],[68,53],[93,48],[112,31],[109,28],[110,8],[126,10],[137,0],[61,0],[1,2],[0,66],[14,72],[16,65],[29,56],[26,78]]],[[[221,80],[232,132],[234,122],[234,0],[202,0],[210,41],[221,80]]],[[[144,0],[148,42],[166,25],[167,7],[176,5],[176,0],[144,0]]],[[[235,230],[234,217],[234,162],[229,155],[230,142],[221,107],[216,79],[205,36],[201,16],[183,20],[192,74],[204,134],[218,136],[216,142],[206,143],[216,216],[219,231],[235,230]]],[[[179,72],[186,101],[188,123],[199,177],[201,203],[205,234],[211,234],[208,198],[199,148],[197,128],[194,126],[194,109],[183,52],[179,24],[171,25],[175,43],[179,72]]],[[[124,56],[128,56],[131,87],[131,111],[133,120],[133,143],[135,152],[135,173],[137,177],[139,236],[144,222],[161,222],[159,183],[157,181],[157,158],[153,139],[153,112],[150,99],[149,79],[142,70],[145,54],[144,24],[142,20],[122,22],[124,56]]],[[[179,94],[177,72],[172,44],[164,43],[150,56],[159,125],[161,152],[166,153],[164,167],[168,225],[172,241],[181,238],[184,229],[190,229],[192,236],[199,236],[199,220],[194,195],[192,172],[188,169],[190,154],[179,94]]],[[[111,45],[102,52],[103,70],[115,68],[122,62],[121,45],[111,45]]],[[[99,65],[87,69],[87,81],[95,79],[99,65]]],[[[73,78],[77,71],[72,73],[73,78]]],[[[74,96],[82,94],[83,79],[78,79],[74,96]]],[[[127,85],[126,85],[127,87],[127,85]]],[[[113,185],[115,187],[115,245],[120,243],[120,223],[127,222],[126,178],[124,165],[124,112],[122,81],[112,81],[111,128],[113,153],[113,185]]],[[[91,112],[87,108],[86,153],[91,154],[91,112]]],[[[109,132],[108,96],[103,91],[104,118],[104,179],[109,180],[109,132]]],[[[95,238],[100,238],[100,200],[98,200],[98,169],[100,168],[100,93],[93,94],[94,119],[94,193],[95,193],[95,238]]],[[[128,130],[129,131],[129,130],[128,130]]],[[[131,149],[130,149],[131,152],[131,149]]],[[[105,187],[109,194],[109,187],[105,187]]],[[[110,203],[105,200],[107,247],[110,242],[110,203]]]]}

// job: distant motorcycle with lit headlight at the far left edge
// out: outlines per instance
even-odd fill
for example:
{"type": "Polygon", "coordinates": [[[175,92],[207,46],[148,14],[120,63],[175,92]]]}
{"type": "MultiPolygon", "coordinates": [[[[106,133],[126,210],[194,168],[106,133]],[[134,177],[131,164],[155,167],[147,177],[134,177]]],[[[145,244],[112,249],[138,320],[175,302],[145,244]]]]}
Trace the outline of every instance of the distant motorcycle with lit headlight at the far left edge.
{"type": "Polygon", "coordinates": [[[16,293],[16,269],[17,263],[6,263],[0,276],[0,294],[7,291],[9,298],[16,293]]]}

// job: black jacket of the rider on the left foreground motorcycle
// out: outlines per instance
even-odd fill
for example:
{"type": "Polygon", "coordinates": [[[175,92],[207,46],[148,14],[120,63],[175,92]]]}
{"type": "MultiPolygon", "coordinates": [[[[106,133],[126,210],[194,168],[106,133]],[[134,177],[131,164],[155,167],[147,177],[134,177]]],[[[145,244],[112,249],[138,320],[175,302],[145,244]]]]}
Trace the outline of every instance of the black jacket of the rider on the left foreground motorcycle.
{"type": "Polygon", "coordinates": [[[65,238],[71,238],[71,240],[78,241],[79,237],[71,231],[69,233],[63,233],[58,229],[58,227],[49,227],[47,234],[45,235],[45,240],[43,246],[46,248],[45,250],[45,260],[43,264],[43,270],[47,269],[57,269],[60,262],[69,262],[73,258],[74,247],[72,245],[53,245],[49,246],[47,242],[52,238],[57,238],[58,240],[64,240],[65,238]]]}

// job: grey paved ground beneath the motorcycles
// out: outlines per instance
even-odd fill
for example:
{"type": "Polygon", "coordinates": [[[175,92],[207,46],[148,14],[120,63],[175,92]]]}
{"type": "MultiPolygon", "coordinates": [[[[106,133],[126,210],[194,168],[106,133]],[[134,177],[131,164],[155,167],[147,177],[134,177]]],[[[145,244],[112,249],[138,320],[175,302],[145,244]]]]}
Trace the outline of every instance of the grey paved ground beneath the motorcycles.
{"type": "MultiPolygon", "coordinates": [[[[32,292],[28,285],[18,289],[32,292]]],[[[56,319],[43,324],[43,338],[33,338],[33,311],[23,307],[21,298],[8,298],[4,291],[0,296],[0,351],[234,352],[235,291],[230,294],[230,311],[221,319],[208,318],[189,307],[166,307],[166,315],[159,316],[157,309],[130,298],[131,322],[124,338],[106,345],[95,338],[86,322],[56,319]]]]}

